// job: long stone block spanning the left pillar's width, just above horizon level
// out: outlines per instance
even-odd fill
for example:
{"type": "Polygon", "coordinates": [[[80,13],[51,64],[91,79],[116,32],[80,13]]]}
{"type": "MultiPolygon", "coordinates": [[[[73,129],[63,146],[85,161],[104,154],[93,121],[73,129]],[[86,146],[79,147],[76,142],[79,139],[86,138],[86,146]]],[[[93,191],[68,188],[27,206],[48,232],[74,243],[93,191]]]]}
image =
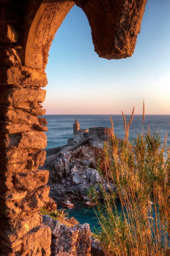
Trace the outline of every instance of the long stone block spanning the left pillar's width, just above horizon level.
{"type": "Polygon", "coordinates": [[[4,89],[1,93],[0,104],[16,104],[36,101],[38,103],[45,100],[46,91],[40,88],[12,88],[4,89]]]}

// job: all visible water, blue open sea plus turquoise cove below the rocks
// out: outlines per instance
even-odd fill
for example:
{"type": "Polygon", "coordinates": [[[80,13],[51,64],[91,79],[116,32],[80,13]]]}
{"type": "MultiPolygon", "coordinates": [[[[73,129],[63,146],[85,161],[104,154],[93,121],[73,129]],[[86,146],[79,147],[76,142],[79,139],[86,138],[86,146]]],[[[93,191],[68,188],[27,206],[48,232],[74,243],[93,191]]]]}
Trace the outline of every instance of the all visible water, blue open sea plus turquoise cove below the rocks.
{"type": "MultiPolygon", "coordinates": [[[[111,127],[109,115],[45,115],[45,118],[49,129],[46,132],[46,148],[66,145],[67,139],[73,138],[73,123],[76,118],[80,123],[80,129],[88,129],[94,126],[111,127]]],[[[123,138],[125,135],[123,117],[121,115],[111,115],[111,118],[114,123],[114,133],[117,137],[123,138]]],[[[126,121],[130,120],[131,115],[125,115],[125,118],[126,121]]],[[[142,133],[142,125],[142,115],[134,115],[129,130],[129,140],[135,139],[138,133],[142,133]]],[[[145,115],[144,131],[148,131],[148,126],[151,134],[156,131],[159,132],[162,144],[167,132],[167,145],[170,146],[170,115],[145,115]]],[[[73,216],[80,224],[89,223],[92,231],[94,231],[94,227],[99,227],[92,207],[87,206],[83,200],[75,200],[73,203],[74,208],[66,209],[69,217],[73,216]]],[[[57,205],[57,208],[61,209],[62,206],[57,205]]],[[[117,200],[117,209],[121,210],[119,200],[117,200]]]]}

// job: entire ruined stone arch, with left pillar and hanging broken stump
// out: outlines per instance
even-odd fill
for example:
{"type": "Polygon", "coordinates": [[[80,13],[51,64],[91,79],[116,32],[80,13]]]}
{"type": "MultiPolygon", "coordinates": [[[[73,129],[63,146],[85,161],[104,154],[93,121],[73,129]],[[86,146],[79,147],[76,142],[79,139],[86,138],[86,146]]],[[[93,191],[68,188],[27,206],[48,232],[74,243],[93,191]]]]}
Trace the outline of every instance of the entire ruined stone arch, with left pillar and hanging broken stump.
{"type": "Polygon", "coordinates": [[[40,207],[48,200],[47,123],[41,102],[48,51],[64,17],[85,12],[95,51],[121,59],[133,54],[147,0],[0,0],[1,255],[50,255],[51,229],[40,207]]]}

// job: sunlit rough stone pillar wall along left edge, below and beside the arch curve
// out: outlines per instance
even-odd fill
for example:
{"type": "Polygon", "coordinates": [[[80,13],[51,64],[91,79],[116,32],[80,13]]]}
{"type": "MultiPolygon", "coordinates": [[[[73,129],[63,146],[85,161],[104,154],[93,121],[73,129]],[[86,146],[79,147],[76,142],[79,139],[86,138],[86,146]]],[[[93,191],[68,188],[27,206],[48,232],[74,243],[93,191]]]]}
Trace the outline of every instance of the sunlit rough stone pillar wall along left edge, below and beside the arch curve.
{"type": "Polygon", "coordinates": [[[22,65],[20,9],[10,1],[0,7],[0,255],[50,255],[51,230],[39,213],[49,171],[38,169],[46,157],[46,119],[38,118],[46,74],[22,65]]]}

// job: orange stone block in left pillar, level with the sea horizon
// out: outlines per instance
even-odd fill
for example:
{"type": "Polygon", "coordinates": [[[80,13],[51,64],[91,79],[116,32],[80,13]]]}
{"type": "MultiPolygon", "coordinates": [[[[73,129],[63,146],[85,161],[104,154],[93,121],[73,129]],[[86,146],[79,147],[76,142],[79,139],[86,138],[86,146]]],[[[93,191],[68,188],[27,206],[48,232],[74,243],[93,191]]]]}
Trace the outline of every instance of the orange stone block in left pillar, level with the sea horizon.
{"type": "MultiPolygon", "coordinates": [[[[18,124],[18,128],[20,124],[39,124],[38,118],[36,116],[32,116],[30,113],[24,112],[20,109],[8,110],[4,113],[4,119],[5,121],[18,124]]],[[[22,127],[20,129],[22,129],[22,127]]],[[[15,130],[16,133],[19,132],[17,131],[17,127],[15,130]]]]}

